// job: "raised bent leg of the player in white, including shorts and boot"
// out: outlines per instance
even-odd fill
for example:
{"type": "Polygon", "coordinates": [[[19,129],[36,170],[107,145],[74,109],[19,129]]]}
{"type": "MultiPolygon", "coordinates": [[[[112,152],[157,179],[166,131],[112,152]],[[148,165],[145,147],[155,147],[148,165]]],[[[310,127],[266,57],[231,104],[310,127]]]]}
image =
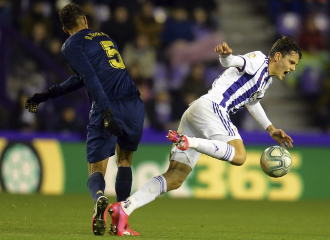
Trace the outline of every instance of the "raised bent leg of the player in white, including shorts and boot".
{"type": "Polygon", "coordinates": [[[180,150],[192,148],[233,165],[244,163],[245,148],[241,136],[230,121],[227,112],[219,105],[200,98],[187,109],[183,119],[185,122],[182,120],[178,129],[180,134],[169,131],[167,135],[177,148],[180,150]],[[187,126],[190,126],[190,131],[194,129],[193,134],[190,135],[186,131],[187,126]]]}

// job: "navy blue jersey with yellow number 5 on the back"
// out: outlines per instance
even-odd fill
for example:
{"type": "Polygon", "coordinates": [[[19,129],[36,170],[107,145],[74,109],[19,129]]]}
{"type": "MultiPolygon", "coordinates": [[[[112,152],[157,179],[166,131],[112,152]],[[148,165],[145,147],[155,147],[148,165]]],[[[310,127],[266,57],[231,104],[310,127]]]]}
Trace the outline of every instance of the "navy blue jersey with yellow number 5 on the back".
{"type": "MultiPolygon", "coordinates": [[[[106,34],[82,29],[65,41],[61,51],[86,86],[94,107],[99,105],[99,109],[103,110],[111,107],[112,100],[140,95],[125,68],[117,44],[106,34]]],[[[62,86],[67,90],[81,86],[77,83],[80,81],[77,75],[62,86]],[[75,87],[70,86],[71,83],[75,87]]]]}

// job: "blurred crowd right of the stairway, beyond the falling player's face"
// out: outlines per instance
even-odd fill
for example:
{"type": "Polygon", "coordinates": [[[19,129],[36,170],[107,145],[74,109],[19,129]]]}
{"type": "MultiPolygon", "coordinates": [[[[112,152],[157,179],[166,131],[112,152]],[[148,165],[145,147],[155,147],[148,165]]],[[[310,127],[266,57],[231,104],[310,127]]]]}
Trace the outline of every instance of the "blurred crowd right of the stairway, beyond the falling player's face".
{"type": "Polygon", "coordinates": [[[311,124],[330,133],[329,0],[269,0],[269,9],[277,33],[296,39],[303,52],[285,83],[301,92],[311,124]]]}

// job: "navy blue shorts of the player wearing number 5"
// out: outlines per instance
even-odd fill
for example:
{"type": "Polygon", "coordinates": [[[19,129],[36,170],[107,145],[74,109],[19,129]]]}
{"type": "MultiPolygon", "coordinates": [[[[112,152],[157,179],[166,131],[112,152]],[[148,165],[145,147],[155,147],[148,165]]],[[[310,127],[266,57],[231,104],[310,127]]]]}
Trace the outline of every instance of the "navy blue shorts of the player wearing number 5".
{"type": "Polygon", "coordinates": [[[104,121],[98,107],[89,113],[86,154],[89,163],[102,161],[115,155],[116,143],[124,150],[136,151],[140,143],[144,123],[144,103],[135,95],[111,101],[111,108],[117,123],[123,127],[120,137],[110,135],[104,128],[104,121]]]}

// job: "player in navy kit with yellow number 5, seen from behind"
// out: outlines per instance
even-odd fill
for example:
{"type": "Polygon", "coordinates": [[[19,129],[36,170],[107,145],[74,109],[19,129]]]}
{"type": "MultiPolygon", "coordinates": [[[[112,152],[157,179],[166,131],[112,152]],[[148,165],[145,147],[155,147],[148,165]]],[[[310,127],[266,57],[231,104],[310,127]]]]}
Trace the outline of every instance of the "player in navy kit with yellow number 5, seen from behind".
{"type": "MultiPolygon", "coordinates": [[[[117,201],[123,201],[131,191],[130,166],[133,151],[142,137],[144,103],[114,40],[88,29],[87,19],[78,4],[67,4],[59,15],[63,31],[70,35],[62,46],[62,54],[75,74],[45,92],[29,96],[25,108],[36,112],[41,102],[86,87],[91,102],[86,152],[87,185],[95,201],[92,229],[95,235],[103,235],[108,207],[108,200],[103,196],[107,162],[117,151],[115,189],[117,201]]],[[[125,234],[139,235],[128,225],[125,234]]]]}

